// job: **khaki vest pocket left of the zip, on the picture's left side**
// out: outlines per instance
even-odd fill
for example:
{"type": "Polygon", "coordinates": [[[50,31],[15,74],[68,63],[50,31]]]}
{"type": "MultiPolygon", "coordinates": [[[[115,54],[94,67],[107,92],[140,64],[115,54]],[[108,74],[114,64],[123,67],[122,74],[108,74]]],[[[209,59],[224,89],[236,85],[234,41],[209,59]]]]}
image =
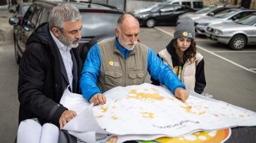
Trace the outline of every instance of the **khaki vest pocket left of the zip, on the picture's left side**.
{"type": "Polygon", "coordinates": [[[105,71],[105,83],[110,86],[123,86],[122,72],[105,71]]]}

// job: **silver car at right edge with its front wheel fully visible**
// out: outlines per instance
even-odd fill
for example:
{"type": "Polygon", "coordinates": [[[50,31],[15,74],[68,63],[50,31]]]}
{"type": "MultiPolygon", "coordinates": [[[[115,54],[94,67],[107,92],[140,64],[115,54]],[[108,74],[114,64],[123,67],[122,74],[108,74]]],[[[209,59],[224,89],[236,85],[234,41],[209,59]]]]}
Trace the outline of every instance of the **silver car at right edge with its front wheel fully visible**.
{"type": "Polygon", "coordinates": [[[229,45],[233,50],[241,50],[247,44],[256,44],[256,12],[236,22],[223,22],[207,27],[208,39],[229,45]]]}

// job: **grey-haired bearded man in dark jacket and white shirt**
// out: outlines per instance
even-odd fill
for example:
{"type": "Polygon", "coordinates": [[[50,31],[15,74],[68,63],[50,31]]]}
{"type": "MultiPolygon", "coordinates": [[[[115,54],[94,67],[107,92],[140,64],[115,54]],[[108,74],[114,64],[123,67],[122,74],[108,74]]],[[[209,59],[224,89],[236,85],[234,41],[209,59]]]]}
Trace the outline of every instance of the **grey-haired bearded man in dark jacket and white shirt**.
{"type": "Polygon", "coordinates": [[[27,40],[19,69],[19,123],[38,118],[41,124],[63,128],[76,116],[59,102],[66,88],[79,93],[82,60],[77,46],[81,29],[79,10],[60,4],[51,11],[49,23],[39,25],[27,40]]]}

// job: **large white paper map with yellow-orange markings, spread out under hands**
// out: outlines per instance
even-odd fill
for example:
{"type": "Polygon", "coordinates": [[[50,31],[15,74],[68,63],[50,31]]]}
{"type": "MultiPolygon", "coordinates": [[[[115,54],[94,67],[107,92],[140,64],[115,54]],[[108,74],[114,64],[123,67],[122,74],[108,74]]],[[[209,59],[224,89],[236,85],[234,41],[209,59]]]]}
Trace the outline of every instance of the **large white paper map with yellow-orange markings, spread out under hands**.
{"type": "Polygon", "coordinates": [[[107,103],[93,107],[81,99],[76,100],[79,106],[75,106],[76,103],[70,102],[68,96],[74,100],[79,95],[64,94],[62,104],[78,113],[65,129],[81,139],[88,133],[94,135],[95,138],[87,142],[101,141],[112,135],[117,135],[118,142],[123,142],[256,125],[253,111],[193,92],[184,103],[166,88],[149,83],[116,87],[104,95],[107,103]]]}

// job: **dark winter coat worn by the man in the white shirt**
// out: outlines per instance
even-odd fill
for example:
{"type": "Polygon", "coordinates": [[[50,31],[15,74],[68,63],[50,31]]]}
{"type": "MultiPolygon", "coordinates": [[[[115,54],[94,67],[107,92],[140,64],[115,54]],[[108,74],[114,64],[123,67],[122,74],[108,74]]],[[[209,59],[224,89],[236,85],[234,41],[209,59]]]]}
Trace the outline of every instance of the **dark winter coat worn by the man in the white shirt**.
{"type": "MultiPolygon", "coordinates": [[[[62,57],[49,31],[49,24],[39,25],[27,39],[27,49],[20,61],[18,99],[19,123],[39,118],[40,123],[56,123],[67,110],[60,102],[69,85],[62,57]]],[[[79,93],[82,60],[78,48],[70,50],[73,61],[73,93],[79,93]]]]}

